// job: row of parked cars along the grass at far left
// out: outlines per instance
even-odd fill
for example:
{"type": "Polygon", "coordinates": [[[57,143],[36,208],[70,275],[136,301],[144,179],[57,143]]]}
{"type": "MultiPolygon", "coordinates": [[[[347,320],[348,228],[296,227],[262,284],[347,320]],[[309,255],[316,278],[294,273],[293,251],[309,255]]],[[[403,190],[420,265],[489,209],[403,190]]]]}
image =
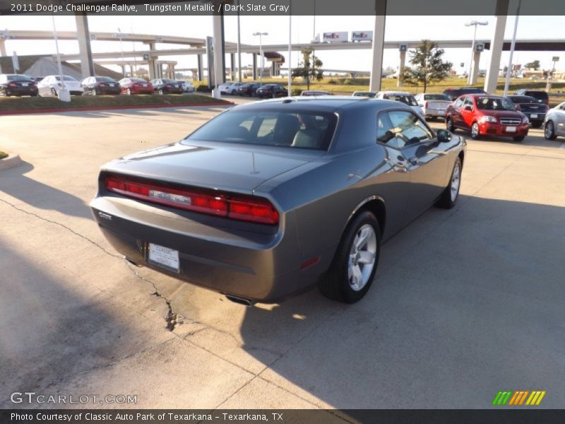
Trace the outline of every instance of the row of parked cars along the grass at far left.
{"type": "Polygon", "coordinates": [[[194,93],[194,84],[190,81],[155,79],[151,82],[143,78],[122,78],[119,81],[108,76],[89,76],[78,81],[69,75],[49,75],[32,78],[17,73],[0,74],[0,95],[59,95],[63,88],[71,95],[135,95],[135,94],[182,94],[194,93]]]}

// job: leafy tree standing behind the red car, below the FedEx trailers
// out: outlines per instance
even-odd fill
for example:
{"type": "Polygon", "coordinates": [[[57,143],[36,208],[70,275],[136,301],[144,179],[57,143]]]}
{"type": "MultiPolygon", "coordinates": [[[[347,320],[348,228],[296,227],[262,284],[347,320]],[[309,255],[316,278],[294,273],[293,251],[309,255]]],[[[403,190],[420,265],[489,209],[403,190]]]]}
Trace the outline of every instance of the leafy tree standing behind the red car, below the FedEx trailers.
{"type": "Polygon", "coordinates": [[[422,40],[418,47],[410,51],[412,67],[406,66],[399,78],[410,86],[422,84],[426,93],[430,83],[437,83],[449,76],[453,64],[441,59],[443,55],[444,49],[439,49],[436,43],[422,40]]]}

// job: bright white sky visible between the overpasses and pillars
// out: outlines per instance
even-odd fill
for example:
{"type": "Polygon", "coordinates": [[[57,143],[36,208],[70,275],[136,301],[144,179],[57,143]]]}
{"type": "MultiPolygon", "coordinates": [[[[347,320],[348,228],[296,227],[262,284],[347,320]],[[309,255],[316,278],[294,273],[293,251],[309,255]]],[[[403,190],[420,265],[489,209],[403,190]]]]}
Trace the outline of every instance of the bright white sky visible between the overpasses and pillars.
{"type": "MultiPolygon", "coordinates": [[[[494,33],[493,16],[387,16],[385,40],[471,40],[472,27],[465,27],[470,20],[487,20],[489,25],[477,28],[477,40],[490,40],[494,33]]],[[[506,20],[506,39],[511,39],[516,17],[509,16],[506,20]]],[[[288,43],[287,16],[242,16],[240,18],[241,40],[244,44],[257,44],[254,32],[268,32],[263,37],[263,44],[288,43]]],[[[563,16],[521,16],[518,20],[517,39],[552,38],[565,40],[565,25],[563,16]]],[[[76,30],[73,16],[56,16],[57,30],[76,30]]],[[[90,31],[143,33],[155,35],[178,35],[184,37],[203,38],[212,35],[212,18],[210,16],[89,16],[90,31]]],[[[52,30],[50,16],[0,16],[0,31],[9,30],[52,30]]],[[[310,42],[314,33],[327,31],[373,30],[374,16],[293,16],[292,42],[310,42]]],[[[225,17],[225,40],[237,41],[237,18],[225,17]]],[[[93,41],[93,52],[119,52],[119,42],[93,41]]],[[[148,49],[142,43],[124,42],[124,50],[148,49]],[[135,44],[135,46],[133,46],[135,44]]],[[[184,46],[157,45],[159,48],[176,48],[184,46]]],[[[8,54],[54,54],[55,45],[51,40],[43,41],[6,41],[8,54]]],[[[78,42],[59,41],[59,50],[64,54],[78,53],[78,42]]],[[[287,52],[281,52],[287,55],[287,52]]],[[[317,53],[326,69],[352,69],[369,71],[371,67],[371,50],[352,51],[320,51],[317,53]]],[[[552,57],[559,52],[515,52],[513,63],[525,64],[535,59],[540,60],[543,69],[552,67],[552,57]]],[[[297,65],[299,52],[292,54],[292,66],[297,65]]],[[[561,66],[565,69],[565,54],[561,52],[561,66]]],[[[119,57],[119,54],[117,54],[119,57]]],[[[445,59],[453,63],[454,69],[460,70],[460,63],[465,63],[468,69],[470,49],[446,49],[445,59]]],[[[481,55],[480,69],[486,69],[488,54],[481,55]]],[[[177,68],[195,68],[196,56],[160,57],[162,60],[177,61],[177,68]]],[[[407,58],[408,59],[408,58],[407,58]]],[[[509,53],[503,52],[501,68],[509,62],[509,53]]],[[[206,62],[204,62],[206,63],[206,62]]],[[[229,59],[227,59],[229,66],[229,59]]],[[[251,64],[251,54],[242,54],[242,64],[251,64]]],[[[385,49],[383,68],[398,67],[398,49],[385,49]]],[[[114,68],[117,70],[117,68],[114,68]]]]}

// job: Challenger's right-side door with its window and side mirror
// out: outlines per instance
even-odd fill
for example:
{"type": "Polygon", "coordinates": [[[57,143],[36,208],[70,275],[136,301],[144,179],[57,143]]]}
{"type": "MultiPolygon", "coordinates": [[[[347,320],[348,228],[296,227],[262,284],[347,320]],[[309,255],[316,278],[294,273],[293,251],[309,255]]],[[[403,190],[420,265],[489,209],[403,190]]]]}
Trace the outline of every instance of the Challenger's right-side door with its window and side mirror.
{"type": "Polygon", "coordinates": [[[400,162],[405,163],[410,189],[406,204],[406,218],[412,220],[432,206],[445,189],[448,168],[446,144],[415,112],[393,110],[388,112],[396,136],[400,162]]]}

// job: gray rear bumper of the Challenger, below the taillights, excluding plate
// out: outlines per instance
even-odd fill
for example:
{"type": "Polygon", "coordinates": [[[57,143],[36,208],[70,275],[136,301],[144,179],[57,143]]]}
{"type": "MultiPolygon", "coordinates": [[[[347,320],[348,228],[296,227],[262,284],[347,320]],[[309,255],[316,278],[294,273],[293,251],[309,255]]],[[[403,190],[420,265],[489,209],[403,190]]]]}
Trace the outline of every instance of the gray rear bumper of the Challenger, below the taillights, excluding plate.
{"type": "MultiPolygon", "coordinates": [[[[220,218],[173,218],[174,212],[112,196],[97,197],[90,206],[102,233],[126,259],[188,283],[257,302],[275,302],[316,283],[332,256],[329,249],[322,254],[323,261],[302,270],[304,259],[297,249],[294,229],[278,228],[270,234],[226,230],[206,222],[220,218]],[[178,250],[179,273],[150,264],[148,243],[178,250]]],[[[290,221],[286,219],[286,228],[295,225],[290,221]]]]}

